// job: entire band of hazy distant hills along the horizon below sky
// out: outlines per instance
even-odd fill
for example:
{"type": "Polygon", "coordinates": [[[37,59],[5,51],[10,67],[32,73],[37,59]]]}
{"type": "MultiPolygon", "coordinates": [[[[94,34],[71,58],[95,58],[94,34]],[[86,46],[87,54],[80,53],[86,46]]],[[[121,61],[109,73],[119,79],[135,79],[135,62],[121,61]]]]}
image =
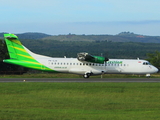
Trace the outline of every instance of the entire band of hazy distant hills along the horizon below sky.
{"type": "MultiPolygon", "coordinates": [[[[3,38],[4,33],[0,33],[3,38]]],[[[22,33],[16,34],[20,39],[58,40],[58,41],[108,41],[108,42],[141,42],[160,43],[160,36],[145,36],[131,32],[121,32],[117,35],[48,35],[44,33],[22,33]]]]}

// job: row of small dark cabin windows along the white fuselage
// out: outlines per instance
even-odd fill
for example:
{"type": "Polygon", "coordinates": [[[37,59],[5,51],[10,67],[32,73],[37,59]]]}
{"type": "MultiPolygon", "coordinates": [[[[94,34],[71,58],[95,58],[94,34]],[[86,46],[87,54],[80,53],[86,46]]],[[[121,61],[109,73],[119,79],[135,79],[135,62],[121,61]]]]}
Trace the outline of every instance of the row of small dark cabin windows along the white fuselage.
{"type": "MultiPolygon", "coordinates": [[[[97,63],[52,63],[52,65],[87,65],[87,66],[126,66],[126,64],[97,64],[97,63]]],[[[128,65],[127,65],[128,66],[128,65]]]]}

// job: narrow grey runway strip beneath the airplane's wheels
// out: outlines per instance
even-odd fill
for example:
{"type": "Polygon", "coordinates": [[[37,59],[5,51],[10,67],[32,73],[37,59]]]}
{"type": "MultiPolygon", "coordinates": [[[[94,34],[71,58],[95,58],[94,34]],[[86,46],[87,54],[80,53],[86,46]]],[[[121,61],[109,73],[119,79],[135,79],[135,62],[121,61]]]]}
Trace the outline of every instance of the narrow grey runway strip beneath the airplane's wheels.
{"type": "Polygon", "coordinates": [[[160,82],[160,78],[0,78],[0,82],[160,82]]]}

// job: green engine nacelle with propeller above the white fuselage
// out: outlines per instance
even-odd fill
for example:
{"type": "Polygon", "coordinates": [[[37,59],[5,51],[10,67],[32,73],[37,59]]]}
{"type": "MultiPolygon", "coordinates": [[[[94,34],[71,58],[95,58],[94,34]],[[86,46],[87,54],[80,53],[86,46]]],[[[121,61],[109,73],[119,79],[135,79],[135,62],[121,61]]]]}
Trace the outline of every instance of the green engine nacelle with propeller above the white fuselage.
{"type": "Polygon", "coordinates": [[[87,62],[100,63],[100,64],[103,64],[105,61],[108,61],[108,58],[106,57],[93,56],[88,53],[78,53],[77,59],[79,61],[87,61],[87,62]]]}

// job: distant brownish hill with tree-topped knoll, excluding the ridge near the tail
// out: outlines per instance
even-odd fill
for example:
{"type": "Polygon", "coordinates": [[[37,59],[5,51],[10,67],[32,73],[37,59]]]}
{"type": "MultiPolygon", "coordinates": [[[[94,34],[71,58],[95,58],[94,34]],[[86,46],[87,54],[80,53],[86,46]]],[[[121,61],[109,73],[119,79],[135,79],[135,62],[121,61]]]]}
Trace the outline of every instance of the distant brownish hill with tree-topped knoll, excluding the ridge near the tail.
{"type": "Polygon", "coordinates": [[[58,41],[112,41],[112,42],[142,42],[160,43],[160,36],[144,36],[130,32],[122,32],[117,35],[57,35],[43,38],[44,40],[58,41]]]}

